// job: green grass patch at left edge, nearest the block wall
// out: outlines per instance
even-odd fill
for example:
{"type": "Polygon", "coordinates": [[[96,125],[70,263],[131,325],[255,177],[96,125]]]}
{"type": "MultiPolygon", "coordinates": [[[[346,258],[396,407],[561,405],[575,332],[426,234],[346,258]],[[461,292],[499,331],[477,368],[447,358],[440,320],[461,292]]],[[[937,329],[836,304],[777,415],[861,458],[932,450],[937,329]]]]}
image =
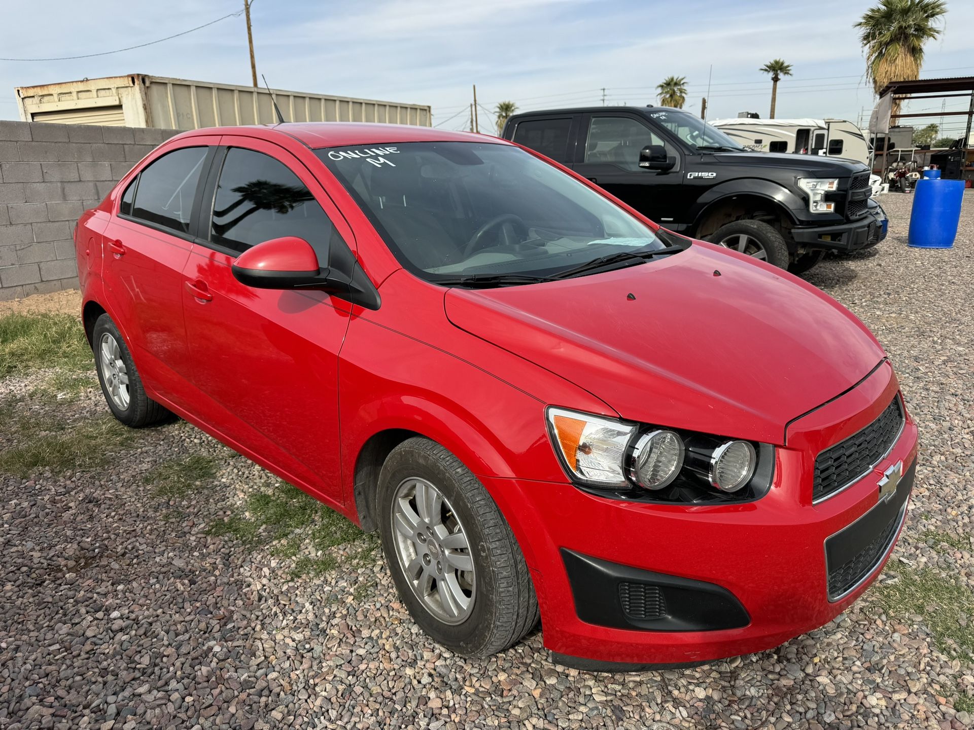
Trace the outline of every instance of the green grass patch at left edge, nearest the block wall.
{"type": "Polygon", "coordinates": [[[17,312],[0,317],[0,377],[42,367],[80,370],[93,361],[77,317],[17,312]]]}

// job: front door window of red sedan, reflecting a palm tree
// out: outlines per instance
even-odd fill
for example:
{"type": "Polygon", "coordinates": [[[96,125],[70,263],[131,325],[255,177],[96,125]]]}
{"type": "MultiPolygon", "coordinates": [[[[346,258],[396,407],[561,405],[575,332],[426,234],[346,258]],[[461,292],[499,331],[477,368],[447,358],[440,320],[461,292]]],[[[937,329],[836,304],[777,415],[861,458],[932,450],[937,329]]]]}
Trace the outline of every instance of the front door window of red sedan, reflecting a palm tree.
{"type": "Polygon", "coordinates": [[[253,150],[227,152],[213,201],[210,240],[243,252],[271,238],[296,236],[327,250],[328,216],[286,165],[253,150]]]}

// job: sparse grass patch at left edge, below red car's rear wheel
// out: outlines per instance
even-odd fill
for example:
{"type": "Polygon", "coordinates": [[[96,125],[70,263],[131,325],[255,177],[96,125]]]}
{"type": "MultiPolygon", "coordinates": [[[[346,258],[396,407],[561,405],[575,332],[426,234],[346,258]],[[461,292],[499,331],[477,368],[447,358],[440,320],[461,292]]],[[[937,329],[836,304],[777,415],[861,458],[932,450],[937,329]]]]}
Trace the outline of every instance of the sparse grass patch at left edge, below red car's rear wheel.
{"type": "Polygon", "coordinates": [[[77,423],[20,419],[18,443],[0,454],[0,473],[26,479],[44,469],[55,474],[94,469],[132,438],[111,416],[77,423]]]}

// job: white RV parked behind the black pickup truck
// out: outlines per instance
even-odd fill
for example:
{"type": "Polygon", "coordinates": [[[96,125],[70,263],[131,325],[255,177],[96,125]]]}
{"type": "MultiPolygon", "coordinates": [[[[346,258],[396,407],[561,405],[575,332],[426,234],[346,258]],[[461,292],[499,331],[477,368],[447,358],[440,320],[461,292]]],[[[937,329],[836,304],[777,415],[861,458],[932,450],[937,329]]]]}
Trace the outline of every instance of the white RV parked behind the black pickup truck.
{"type": "MultiPolygon", "coordinates": [[[[842,119],[719,119],[710,123],[749,150],[822,155],[873,164],[872,148],[862,129],[842,119]]],[[[882,180],[870,175],[873,195],[882,180]]]]}

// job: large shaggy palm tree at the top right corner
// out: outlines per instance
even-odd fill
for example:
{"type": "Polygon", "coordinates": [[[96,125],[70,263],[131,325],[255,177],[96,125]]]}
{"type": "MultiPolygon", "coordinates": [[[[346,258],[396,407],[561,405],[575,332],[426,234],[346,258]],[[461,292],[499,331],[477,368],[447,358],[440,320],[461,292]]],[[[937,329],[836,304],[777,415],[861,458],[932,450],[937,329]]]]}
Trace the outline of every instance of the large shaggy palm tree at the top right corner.
{"type": "MultiPolygon", "coordinates": [[[[877,94],[891,81],[919,78],[923,44],[940,35],[938,22],[947,12],[944,0],[880,0],[852,27],[860,28],[866,50],[866,76],[877,94]]],[[[893,101],[893,114],[902,102],[893,101]]]]}

